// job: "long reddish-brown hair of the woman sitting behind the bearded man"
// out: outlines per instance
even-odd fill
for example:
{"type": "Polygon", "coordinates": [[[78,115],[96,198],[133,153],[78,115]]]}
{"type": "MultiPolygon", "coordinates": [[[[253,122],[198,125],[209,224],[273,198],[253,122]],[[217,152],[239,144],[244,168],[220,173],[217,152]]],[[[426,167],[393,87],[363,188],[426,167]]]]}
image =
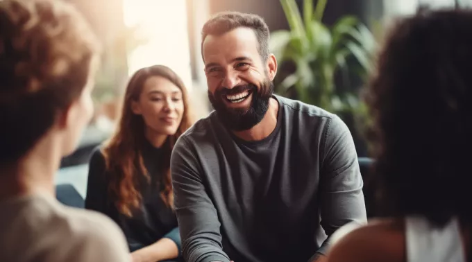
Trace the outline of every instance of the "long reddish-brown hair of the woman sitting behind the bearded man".
{"type": "Polygon", "coordinates": [[[108,177],[108,194],[115,202],[119,212],[126,216],[133,216],[133,210],[139,209],[142,200],[137,186],[144,176],[150,181],[149,173],[144,166],[142,149],[146,142],[144,137],[145,123],[142,116],[134,114],[131,110],[131,103],[137,101],[142,92],[144,82],[152,76],[166,78],[176,85],[183,95],[184,113],[177,132],[167,138],[165,143],[165,153],[162,159],[162,167],[165,169],[161,182],[161,198],[168,207],[174,207],[174,192],[170,177],[170,155],[174,143],[187,128],[192,125],[190,116],[188,94],[185,85],[177,74],[162,65],[144,67],[138,70],[128,82],[121,111],[121,119],[115,134],[103,147],[102,153],[106,160],[106,170],[108,177]]]}

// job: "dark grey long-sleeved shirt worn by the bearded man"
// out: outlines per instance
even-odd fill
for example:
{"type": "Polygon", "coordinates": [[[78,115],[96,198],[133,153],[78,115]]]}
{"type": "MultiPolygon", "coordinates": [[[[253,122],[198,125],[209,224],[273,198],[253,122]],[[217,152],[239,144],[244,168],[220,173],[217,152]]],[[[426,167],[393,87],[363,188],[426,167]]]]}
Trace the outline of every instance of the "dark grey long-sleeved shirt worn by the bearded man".
{"type": "Polygon", "coordinates": [[[244,141],[217,113],[178,139],[171,156],[187,262],[305,262],[327,236],[366,221],[353,139],[339,117],[280,96],[275,130],[244,141]]]}

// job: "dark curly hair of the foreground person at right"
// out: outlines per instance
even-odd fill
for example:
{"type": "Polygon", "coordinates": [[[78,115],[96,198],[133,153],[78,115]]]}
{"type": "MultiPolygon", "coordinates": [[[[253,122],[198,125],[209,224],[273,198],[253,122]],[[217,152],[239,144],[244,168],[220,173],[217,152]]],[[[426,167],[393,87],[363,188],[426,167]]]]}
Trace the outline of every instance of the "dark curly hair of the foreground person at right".
{"type": "Polygon", "coordinates": [[[367,97],[383,216],[471,225],[471,63],[471,10],[421,10],[389,33],[367,97]]]}

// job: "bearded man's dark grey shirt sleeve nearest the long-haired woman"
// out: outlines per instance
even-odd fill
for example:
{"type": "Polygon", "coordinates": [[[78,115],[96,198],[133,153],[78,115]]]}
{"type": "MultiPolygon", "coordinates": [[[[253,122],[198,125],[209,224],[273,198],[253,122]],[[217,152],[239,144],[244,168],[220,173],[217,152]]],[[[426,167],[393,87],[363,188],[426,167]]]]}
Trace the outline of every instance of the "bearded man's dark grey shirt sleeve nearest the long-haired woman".
{"type": "Polygon", "coordinates": [[[221,245],[220,222],[201,176],[192,144],[180,137],[171,155],[174,204],[187,262],[230,262],[221,245]]]}

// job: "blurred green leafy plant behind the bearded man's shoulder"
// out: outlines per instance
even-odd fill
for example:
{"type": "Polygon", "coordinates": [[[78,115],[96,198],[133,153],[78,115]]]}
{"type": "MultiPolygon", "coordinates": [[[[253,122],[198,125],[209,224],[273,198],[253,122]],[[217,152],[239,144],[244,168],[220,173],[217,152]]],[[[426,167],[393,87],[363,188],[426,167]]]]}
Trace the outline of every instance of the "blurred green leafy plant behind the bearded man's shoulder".
{"type": "MultiPolygon", "coordinates": [[[[364,80],[372,68],[376,40],[357,17],[346,15],[332,26],[323,24],[328,0],[303,1],[303,16],[295,0],[280,0],[289,30],[271,33],[269,48],[280,65],[290,64],[292,70],[280,72],[276,92],[339,114],[353,129],[368,121],[366,106],[355,87],[349,86],[355,76],[364,80]],[[292,95],[293,96],[293,95],[292,95]]],[[[282,67],[284,68],[284,67],[282,67]]],[[[363,131],[358,131],[363,132],[363,131]]]]}

